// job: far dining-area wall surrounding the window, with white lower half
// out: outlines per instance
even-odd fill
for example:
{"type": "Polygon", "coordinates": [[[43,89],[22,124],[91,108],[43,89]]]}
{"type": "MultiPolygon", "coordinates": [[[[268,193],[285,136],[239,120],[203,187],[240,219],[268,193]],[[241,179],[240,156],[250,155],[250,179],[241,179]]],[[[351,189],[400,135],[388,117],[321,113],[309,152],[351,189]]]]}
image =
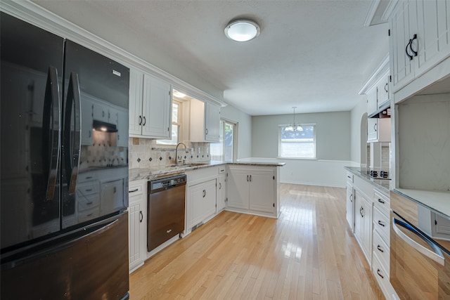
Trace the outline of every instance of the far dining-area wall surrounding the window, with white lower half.
{"type": "MultiPolygon", "coordinates": [[[[350,112],[296,115],[297,122],[316,124],[317,159],[278,159],[285,162],[280,181],[345,187],[345,166],[350,162],[350,112]]],[[[278,157],[278,124],[289,124],[292,115],[252,117],[252,157],[278,157]]]]}

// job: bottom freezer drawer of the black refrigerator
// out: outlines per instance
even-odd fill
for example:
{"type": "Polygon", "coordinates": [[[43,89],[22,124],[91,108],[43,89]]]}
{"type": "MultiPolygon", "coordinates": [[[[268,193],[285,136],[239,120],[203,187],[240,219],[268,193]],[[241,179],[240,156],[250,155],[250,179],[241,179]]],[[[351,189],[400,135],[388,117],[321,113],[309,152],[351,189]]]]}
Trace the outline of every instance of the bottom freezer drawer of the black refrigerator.
{"type": "Polygon", "coordinates": [[[127,299],[128,291],[127,211],[1,265],[1,299],[127,299]]]}

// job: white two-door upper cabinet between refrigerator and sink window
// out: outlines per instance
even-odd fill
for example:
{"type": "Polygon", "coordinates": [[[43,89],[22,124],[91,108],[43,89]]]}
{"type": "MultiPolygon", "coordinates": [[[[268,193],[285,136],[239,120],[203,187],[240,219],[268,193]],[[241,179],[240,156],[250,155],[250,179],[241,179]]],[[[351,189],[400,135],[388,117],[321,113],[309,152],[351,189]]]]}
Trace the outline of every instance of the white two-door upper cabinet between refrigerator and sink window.
{"type": "Polygon", "coordinates": [[[130,70],[129,133],[146,138],[170,138],[171,86],[167,82],[130,70]]]}

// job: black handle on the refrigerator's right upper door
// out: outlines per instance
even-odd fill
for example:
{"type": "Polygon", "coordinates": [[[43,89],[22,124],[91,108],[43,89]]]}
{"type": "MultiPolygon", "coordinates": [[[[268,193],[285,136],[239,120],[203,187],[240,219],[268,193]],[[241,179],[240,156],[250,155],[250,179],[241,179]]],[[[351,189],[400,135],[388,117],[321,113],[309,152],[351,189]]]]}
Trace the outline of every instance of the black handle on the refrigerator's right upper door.
{"type": "Polygon", "coordinates": [[[70,178],[69,194],[75,193],[77,188],[78,167],[79,167],[79,155],[81,152],[81,101],[79,96],[79,81],[78,74],[71,72],[68,97],[65,105],[65,154],[67,176],[70,178]],[[72,107],[74,107],[74,123],[73,123],[73,136],[70,122],[72,120],[72,107]],[[71,147],[73,145],[73,148],[71,147]]]}

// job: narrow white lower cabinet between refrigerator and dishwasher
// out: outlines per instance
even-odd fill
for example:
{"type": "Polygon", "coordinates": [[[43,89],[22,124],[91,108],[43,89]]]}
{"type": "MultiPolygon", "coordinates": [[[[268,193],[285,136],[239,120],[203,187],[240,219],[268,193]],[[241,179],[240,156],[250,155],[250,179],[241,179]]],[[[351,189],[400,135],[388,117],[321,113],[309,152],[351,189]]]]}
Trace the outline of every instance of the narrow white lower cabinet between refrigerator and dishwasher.
{"type": "Polygon", "coordinates": [[[129,183],[129,270],[143,265],[147,254],[147,181],[129,183]]]}

